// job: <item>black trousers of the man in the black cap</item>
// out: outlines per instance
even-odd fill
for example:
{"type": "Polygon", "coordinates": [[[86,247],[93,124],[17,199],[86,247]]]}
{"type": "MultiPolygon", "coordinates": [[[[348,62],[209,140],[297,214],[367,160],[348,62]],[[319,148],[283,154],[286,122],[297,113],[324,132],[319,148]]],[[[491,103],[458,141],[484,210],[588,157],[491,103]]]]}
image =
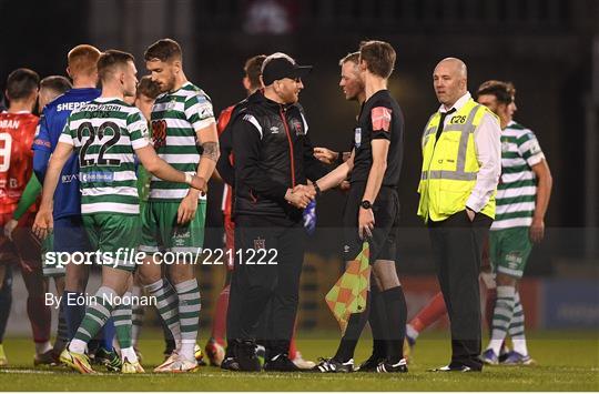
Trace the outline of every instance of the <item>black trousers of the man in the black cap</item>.
{"type": "Polygon", "coordinates": [[[230,339],[256,340],[260,319],[267,312],[270,322],[266,333],[260,333],[261,340],[273,355],[288,351],[304,247],[301,222],[257,215],[235,218],[236,254],[227,316],[235,324],[227,324],[230,339]]]}

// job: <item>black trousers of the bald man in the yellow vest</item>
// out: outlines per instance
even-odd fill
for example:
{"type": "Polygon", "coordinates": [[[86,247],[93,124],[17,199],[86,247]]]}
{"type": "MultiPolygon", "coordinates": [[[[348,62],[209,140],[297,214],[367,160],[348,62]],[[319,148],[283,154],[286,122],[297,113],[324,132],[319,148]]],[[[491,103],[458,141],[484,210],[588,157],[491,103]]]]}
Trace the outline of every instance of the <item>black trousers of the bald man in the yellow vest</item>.
{"type": "Polygon", "coordinates": [[[449,219],[428,221],[437,277],[451,326],[451,365],[481,368],[480,293],[478,274],[483,243],[493,220],[477,213],[470,222],[466,211],[449,219]]]}

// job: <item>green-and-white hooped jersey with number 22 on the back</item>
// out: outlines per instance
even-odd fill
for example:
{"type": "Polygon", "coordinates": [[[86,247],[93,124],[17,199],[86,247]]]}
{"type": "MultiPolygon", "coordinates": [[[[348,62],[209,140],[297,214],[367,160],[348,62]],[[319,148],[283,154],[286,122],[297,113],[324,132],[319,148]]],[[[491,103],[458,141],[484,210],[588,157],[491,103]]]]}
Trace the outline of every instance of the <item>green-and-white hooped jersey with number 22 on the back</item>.
{"type": "Polygon", "coordinates": [[[140,212],[134,150],[150,138],[139,109],[98,98],[71,112],[59,142],[78,154],[82,214],[140,212]]]}

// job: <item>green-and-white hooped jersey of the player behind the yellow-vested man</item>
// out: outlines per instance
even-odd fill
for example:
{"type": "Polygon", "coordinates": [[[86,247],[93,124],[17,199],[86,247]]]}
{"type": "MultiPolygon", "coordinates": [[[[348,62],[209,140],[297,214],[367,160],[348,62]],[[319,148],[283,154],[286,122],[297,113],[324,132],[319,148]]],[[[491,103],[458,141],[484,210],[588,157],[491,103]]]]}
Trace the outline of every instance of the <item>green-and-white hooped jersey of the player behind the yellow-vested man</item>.
{"type": "Polygon", "coordinates": [[[537,176],[531,168],[545,155],[535,133],[510,122],[501,132],[501,178],[491,230],[530,226],[537,198],[537,176]]]}

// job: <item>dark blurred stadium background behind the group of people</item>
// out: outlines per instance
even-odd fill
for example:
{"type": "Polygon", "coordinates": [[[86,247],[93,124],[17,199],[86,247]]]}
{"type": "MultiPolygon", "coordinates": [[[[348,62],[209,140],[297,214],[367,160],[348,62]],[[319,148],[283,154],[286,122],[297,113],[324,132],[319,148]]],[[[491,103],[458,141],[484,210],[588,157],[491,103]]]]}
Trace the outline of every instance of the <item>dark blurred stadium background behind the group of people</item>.
{"type": "MultiPolygon", "coordinates": [[[[445,57],[461,58],[468,65],[470,92],[488,79],[516,84],[515,119],[536,132],[554,175],[548,240],[535,252],[531,272],[597,261],[597,1],[4,0],[0,16],[2,89],[18,67],[41,77],[64,74],[67,52],[79,43],[130,51],[143,75],[144,49],[171,37],[182,44],[187,78],[211,95],[220,112],[244,97],[245,59],[286,52],[314,65],[301,102],[313,142],[335,150],[347,149],[358,111],[337,85],[337,62],[361,40],[389,41],[397,51],[389,89],[406,124],[399,193],[402,253],[409,256],[408,271],[430,267],[420,264],[428,261],[422,251],[429,246],[416,216],[416,188],[422,129],[438,107],[432,72],[445,57]]],[[[220,189],[213,185],[212,193],[220,189]]],[[[220,204],[216,195],[212,200],[220,204]]],[[[312,250],[336,253],[342,206],[338,192],[318,201],[319,229],[312,250]]]]}

